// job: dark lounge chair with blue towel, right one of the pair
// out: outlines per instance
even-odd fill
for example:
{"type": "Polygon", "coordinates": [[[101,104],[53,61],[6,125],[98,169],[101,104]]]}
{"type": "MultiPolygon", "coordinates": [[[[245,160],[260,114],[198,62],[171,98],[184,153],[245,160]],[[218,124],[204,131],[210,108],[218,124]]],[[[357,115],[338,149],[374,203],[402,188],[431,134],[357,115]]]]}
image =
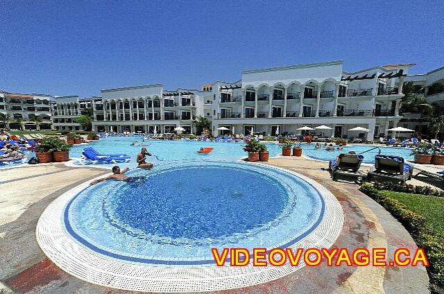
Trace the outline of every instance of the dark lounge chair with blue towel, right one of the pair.
{"type": "Polygon", "coordinates": [[[404,157],[393,155],[376,155],[375,171],[367,174],[369,182],[402,182],[411,179],[413,166],[404,164],[404,157]]]}

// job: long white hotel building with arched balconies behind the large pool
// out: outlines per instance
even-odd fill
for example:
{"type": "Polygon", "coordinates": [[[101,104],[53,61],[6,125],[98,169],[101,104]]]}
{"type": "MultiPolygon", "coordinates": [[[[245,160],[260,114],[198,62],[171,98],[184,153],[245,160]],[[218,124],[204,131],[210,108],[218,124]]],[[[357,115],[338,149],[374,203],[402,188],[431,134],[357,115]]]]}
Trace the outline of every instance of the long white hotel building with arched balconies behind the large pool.
{"type": "Polygon", "coordinates": [[[94,98],[93,129],[99,132],[171,132],[205,116],[234,133],[297,133],[300,126],[330,126],[324,135],[356,137],[350,128],[370,129],[368,139],[398,125],[402,83],[413,64],[356,72],[343,61],[242,71],[234,83],[217,81],[196,89],[167,91],[162,84],[103,89],[94,98]]]}

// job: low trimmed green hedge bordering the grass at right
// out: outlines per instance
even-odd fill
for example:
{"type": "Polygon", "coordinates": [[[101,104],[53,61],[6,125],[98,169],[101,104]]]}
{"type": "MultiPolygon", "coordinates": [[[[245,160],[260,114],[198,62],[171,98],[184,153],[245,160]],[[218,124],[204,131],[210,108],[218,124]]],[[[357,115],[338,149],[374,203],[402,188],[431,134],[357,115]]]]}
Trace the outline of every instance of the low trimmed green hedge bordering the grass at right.
{"type": "MultiPolygon", "coordinates": [[[[385,196],[384,193],[379,193],[383,187],[390,191],[414,193],[412,191],[422,192],[420,194],[434,195],[427,189],[418,189],[418,186],[412,185],[396,185],[396,184],[369,184],[364,183],[359,190],[366,195],[373,198],[387,211],[389,211],[395,218],[397,218],[402,225],[410,232],[413,239],[418,244],[419,248],[423,248],[429,260],[427,271],[430,279],[430,289],[432,293],[444,293],[444,238],[437,236],[429,227],[425,218],[421,214],[411,211],[409,207],[402,204],[400,201],[391,197],[385,196]],[[407,187],[408,186],[408,187],[407,187]],[[426,193],[427,192],[427,193],[426,193]]],[[[430,189],[436,191],[434,189],[430,189]]],[[[440,197],[443,196],[441,191],[440,197]]]]}

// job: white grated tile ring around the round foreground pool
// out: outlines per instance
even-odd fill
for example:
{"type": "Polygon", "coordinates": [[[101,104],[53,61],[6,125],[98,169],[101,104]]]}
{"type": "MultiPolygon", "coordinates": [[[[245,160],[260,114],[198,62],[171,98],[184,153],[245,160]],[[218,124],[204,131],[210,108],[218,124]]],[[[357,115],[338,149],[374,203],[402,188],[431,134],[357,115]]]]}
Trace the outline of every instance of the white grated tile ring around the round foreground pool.
{"type": "MultiPolygon", "coordinates": [[[[298,173],[264,164],[255,165],[295,175],[314,187],[325,202],[325,214],[321,223],[311,234],[290,248],[330,248],[343,226],[343,211],[332,193],[321,184],[298,173]]],[[[54,200],[46,207],[36,228],[37,242],[44,254],[62,270],[87,282],[130,291],[218,291],[269,282],[305,266],[303,262],[296,267],[289,263],[278,267],[253,267],[251,263],[241,267],[145,266],[103,257],[76,243],[60,221],[66,203],[88,185],[89,182],[80,184],[54,200]]]]}

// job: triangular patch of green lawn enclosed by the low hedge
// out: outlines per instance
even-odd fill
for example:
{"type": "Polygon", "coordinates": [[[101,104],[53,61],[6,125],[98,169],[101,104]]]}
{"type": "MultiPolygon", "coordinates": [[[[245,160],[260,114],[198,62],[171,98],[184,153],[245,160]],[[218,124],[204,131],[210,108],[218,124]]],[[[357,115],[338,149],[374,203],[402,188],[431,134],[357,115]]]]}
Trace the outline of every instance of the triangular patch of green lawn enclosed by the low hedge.
{"type": "Polygon", "coordinates": [[[400,201],[411,211],[422,214],[430,228],[444,237],[444,198],[394,191],[381,191],[381,193],[400,201]]]}

